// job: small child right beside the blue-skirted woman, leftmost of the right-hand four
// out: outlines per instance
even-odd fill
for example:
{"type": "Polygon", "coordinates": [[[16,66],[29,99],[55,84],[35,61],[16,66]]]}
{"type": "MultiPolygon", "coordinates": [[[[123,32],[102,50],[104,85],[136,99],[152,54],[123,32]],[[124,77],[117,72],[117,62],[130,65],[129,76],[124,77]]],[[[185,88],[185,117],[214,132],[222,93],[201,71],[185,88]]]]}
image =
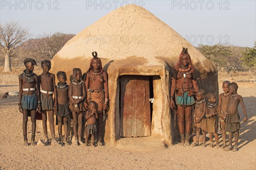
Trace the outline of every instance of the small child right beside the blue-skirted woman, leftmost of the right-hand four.
{"type": "MultiPolygon", "coordinates": [[[[199,136],[200,136],[200,129],[201,129],[201,122],[202,119],[204,119],[204,115],[206,112],[206,101],[204,99],[204,94],[205,91],[203,89],[198,90],[196,93],[196,99],[197,101],[195,102],[195,111],[194,111],[194,122],[195,122],[195,127],[196,127],[196,142],[192,144],[192,146],[198,146],[199,145],[199,136]]],[[[202,129],[204,141],[203,145],[205,147],[205,142],[206,142],[206,133],[202,129]]]]}

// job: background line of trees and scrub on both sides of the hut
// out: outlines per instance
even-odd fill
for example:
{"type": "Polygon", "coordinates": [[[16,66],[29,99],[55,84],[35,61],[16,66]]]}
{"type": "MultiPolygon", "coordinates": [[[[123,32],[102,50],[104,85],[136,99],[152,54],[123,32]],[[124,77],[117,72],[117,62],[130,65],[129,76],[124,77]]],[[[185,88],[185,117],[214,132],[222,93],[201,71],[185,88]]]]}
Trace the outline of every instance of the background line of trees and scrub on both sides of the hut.
{"type": "MultiPolygon", "coordinates": [[[[23,59],[33,58],[37,62],[41,59],[52,59],[55,54],[73,38],[74,34],[56,32],[52,35],[44,34],[37,39],[26,40],[28,28],[23,28],[19,22],[6,22],[0,25],[0,63],[6,72],[12,66],[22,66],[23,59]],[[24,41],[26,40],[26,41],[24,41]]],[[[252,69],[256,65],[256,42],[253,47],[236,47],[232,45],[199,45],[197,47],[205,57],[215,63],[219,71],[227,74],[236,71],[249,70],[255,82],[252,69]]]]}

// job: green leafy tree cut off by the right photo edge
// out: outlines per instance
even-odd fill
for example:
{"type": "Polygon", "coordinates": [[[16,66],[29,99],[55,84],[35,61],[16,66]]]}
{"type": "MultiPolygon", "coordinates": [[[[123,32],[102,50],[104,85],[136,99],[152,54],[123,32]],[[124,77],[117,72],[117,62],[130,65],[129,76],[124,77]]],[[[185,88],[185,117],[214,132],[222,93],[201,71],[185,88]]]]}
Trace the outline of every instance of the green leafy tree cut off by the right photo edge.
{"type": "Polygon", "coordinates": [[[254,46],[252,48],[246,47],[245,50],[241,52],[243,54],[241,61],[244,65],[249,67],[250,76],[253,78],[253,81],[256,84],[255,78],[251,73],[251,68],[256,65],[256,41],[254,41],[254,46]]]}

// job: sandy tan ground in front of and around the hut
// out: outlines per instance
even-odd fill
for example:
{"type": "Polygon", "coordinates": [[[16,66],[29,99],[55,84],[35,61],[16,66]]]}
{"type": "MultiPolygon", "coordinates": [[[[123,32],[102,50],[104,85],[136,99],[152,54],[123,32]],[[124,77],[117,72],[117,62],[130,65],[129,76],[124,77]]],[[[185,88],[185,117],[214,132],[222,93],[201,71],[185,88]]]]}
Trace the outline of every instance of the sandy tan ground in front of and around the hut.
{"type": "MultiPolygon", "coordinates": [[[[222,80],[221,80],[222,81],[222,80]]],[[[220,90],[221,83],[219,83],[220,90]]],[[[74,145],[23,146],[22,114],[17,110],[18,97],[0,99],[0,169],[256,169],[256,88],[253,83],[238,82],[249,116],[241,123],[239,151],[225,152],[207,147],[167,147],[161,137],[126,138],[116,146],[96,148],[74,145]]],[[[18,91],[16,74],[0,75],[0,94],[18,91]]],[[[241,118],[244,116],[239,106],[241,118]]],[[[37,121],[36,142],[44,139],[41,121],[37,121]]],[[[48,133],[49,134],[49,133],[48,133]]],[[[57,133],[56,133],[57,136],[57,133]]],[[[28,122],[28,139],[31,122],[28,122]]],[[[222,138],[219,135],[221,144],[222,138]]],[[[175,142],[177,143],[177,142],[175,142]]]]}

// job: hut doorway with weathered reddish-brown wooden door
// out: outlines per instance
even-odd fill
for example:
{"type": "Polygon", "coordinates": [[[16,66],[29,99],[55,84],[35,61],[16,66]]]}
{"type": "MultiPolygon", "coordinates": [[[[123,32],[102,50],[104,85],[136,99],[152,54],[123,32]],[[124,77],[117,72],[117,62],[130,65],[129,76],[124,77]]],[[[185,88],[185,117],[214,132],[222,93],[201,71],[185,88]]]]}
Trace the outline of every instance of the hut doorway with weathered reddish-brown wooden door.
{"type": "Polygon", "coordinates": [[[120,77],[120,136],[151,135],[153,79],[152,76],[120,77]]]}

